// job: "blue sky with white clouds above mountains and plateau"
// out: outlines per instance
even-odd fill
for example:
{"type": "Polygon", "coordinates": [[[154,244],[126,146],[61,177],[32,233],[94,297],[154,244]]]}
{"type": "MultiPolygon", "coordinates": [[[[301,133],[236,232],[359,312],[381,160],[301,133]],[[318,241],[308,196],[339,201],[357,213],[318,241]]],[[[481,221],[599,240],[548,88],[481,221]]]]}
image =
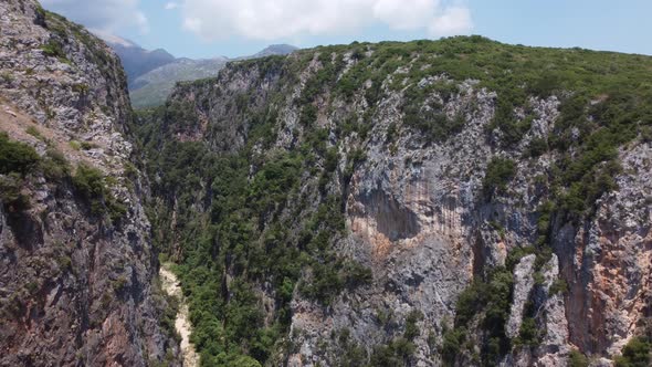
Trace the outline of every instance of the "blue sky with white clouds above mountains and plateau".
{"type": "Polygon", "coordinates": [[[353,41],[481,34],[496,41],[652,55],[652,0],[41,0],[145,49],[208,59],[353,41]]]}

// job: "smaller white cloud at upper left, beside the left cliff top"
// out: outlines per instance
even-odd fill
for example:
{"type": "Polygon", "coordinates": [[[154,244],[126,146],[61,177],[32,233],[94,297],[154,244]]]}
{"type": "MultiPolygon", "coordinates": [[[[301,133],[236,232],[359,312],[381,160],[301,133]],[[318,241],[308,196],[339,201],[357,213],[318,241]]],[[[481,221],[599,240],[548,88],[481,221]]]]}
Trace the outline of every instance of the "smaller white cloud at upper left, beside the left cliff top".
{"type": "Polygon", "coordinates": [[[77,23],[104,32],[124,28],[149,31],[149,22],[139,8],[139,0],[41,0],[48,10],[57,12],[77,23]]]}

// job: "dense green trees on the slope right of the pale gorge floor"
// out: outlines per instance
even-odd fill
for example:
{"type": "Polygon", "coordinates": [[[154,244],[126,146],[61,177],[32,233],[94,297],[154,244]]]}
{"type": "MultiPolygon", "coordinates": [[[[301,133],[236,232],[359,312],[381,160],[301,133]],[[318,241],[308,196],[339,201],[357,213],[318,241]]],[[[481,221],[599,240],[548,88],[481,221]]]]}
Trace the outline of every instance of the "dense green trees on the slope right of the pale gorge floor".
{"type": "MultiPolygon", "coordinates": [[[[214,154],[202,143],[164,138],[192,123],[185,111],[170,103],[141,113],[153,123],[136,127],[150,159],[149,175],[160,177],[154,191],[161,201],[150,208],[156,244],[172,259],[181,250],[175,260],[202,365],[270,363],[287,335],[295,292],[328,307],[341,292],[371,280],[369,269],[332,247],[345,229],[341,199],[320,190],[319,180],[299,190],[305,171],[326,181],[335,177],[338,149],[306,120],[311,144],[259,155],[254,146],[275,136],[277,114],[252,106],[235,108],[249,126],[249,141],[239,151],[214,154]],[[318,206],[306,206],[315,196],[318,206]],[[170,200],[177,202],[173,240],[179,248],[171,248],[170,234],[162,231],[170,228],[170,200]],[[207,203],[206,213],[198,213],[197,202],[207,203]],[[261,310],[263,284],[274,297],[271,322],[261,310]]],[[[359,350],[347,345],[350,359],[358,360],[359,350]]]]}

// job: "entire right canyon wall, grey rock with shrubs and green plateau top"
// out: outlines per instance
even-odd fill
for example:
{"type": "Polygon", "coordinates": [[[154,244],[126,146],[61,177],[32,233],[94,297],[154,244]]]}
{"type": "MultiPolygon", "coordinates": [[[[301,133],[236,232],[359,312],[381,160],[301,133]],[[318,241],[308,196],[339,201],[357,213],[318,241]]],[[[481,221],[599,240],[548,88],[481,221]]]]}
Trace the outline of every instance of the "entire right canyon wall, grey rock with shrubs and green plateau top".
{"type": "MultiPolygon", "coordinates": [[[[638,130],[648,117],[632,117],[634,133],[618,150],[587,158],[589,136],[609,129],[600,122],[611,103],[600,94],[607,92],[581,99],[574,111],[582,118],[572,119],[571,82],[555,93],[539,90],[545,76],[509,90],[501,85],[509,76],[499,77],[517,73],[517,64],[473,72],[491,64],[473,57],[494,46],[495,57],[507,53],[516,63],[536,59],[530,50],[477,39],[433,43],[430,53],[430,43],[401,46],[325,48],[230,64],[215,80],[178,86],[166,107],[141,118],[150,160],[160,165],[153,169],[159,200],[173,208],[161,209],[158,231],[187,266],[188,292],[202,294],[203,304],[215,300],[213,308],[196,304],[198,312],[218,310],[196,327],[270,365],[566,366],[572,349],[612,359],[650,317],[652,157],[638,130]],[[501,83],[487,83],[494,72],[501,83]],[[514,91],[528,92],[505,108],[514,91]],[[505,114],[513,123],[501,126],[505,114]],[[203,171],[189,157],[165,154],[181,148],[189,157],[201,151],[202,164],[217,156],[219,168],[203,171]],[[290,158],[277,162],[280,156],[290,158]],[[621,170],[608,170],[614,161],[621,170]],[[292,177],[272,186],[284,177],[280,170],[292,177]],[[182,181],[182,172],[192,177],[182,181]],[[614,185],[580,185],[607,172],[614,185]],[[222,182],[229,179],[231,186],[222,182]],[[245,187],[242,198],[238,187],[245,187]],[[259,193],[266,193],[264,206],[259,193]],[[229,200],[248,211],[229,209],[229,200]],[[315,241],[340,214],[345,230],[315,241]],[[285,273],[286,282],[275,277],[284,245],[298,249],[291,259],[301,266],[298,275],[285,273]],[[272,263],[260,265],[256,256],[272,263]],[[333,256],[369,269],[371,279],[345,274],[333,256]],[[201,293],[206,283],[220,294],[201,293]],[[246,305],[263,315],[248,327],[278,327],[290,307],[271,355],[260,353],[260,336],[240,336],[246,334],[234,310],[243,284],[255,300],[246,305]],[[293,290],[290,303],[276,284],[293,290]]],[[[599,57],[582,52],[534,50],[557,61],[599,57]]]]}

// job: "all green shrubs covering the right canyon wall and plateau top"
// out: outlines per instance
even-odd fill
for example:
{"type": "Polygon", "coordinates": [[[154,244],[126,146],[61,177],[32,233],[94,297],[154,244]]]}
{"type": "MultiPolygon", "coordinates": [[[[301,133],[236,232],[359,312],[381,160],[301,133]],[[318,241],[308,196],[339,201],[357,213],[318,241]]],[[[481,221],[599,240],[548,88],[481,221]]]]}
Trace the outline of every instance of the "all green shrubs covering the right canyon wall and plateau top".
{"type": "MultiPolygon", "coordinates": [[[[344,235],[343,200],[355,168],[365,159],[377,106],[388,92],[402,98],[403,118],[387,130],[386,143],[395,150],[401,134],[416,134],[424,146],[441,144],[454,138],[476,111],[473,102],[451,104],[466,93],[462,82],[470,80],[475,91],[497,93],[495,116],[484,132],[493,148],[505,156],[522,153],[523,159],[548,153],[558,159],[539,178],[546,195],[538,210],[537,242],[511,253],[505,268],[479,276],[460,296],[441,353],[449,365],[461,354],[473,355],[475,339],[469,329],[476,324],[483,331],[477,340],[481,353],[472,357],[477,364],[495,365],[513,346],[537,345],[540,335],[533,314],[526,313],[517,338],[505,334],[513,268],[520,256],[535,253],[540,272],[551,255],[553,223],[590,216],[596,200],[616,187],[618,148],[650,134],[650,71],[652,61],[644,56],[512,46],[480,36],[356,43],[229,66],[227,72],[278,80],[265,92],[266,106],[253,103],[254,88],[233,96],[227,106],[231,122],[243,126],[242,146],[215,149],[221,144],[214,139],[222,133],[219,126],[208,127],[209,141],[173,139],[198,128],[198,112],[210,109],[203,92],[192,102],[171,101],[143,112],[144,123],[135,130],[155,182],[157,200],[149,208],[155,240],[179,264],[202,364],[232,365],[243,356],[275,364],[274,355],[291,347],[283,336],[293,296],[298,293],[327,310],[339,294],[371,280],[368,269],[341,259],[333,245],[344,235]],[[299,124],[292,132],[292,148],[276,148],[277,135],[288,134],[276,108],[293,95],[308,64],[313,72],[294,101],[299,124]],[[548,138],[524,144],[537,118],[532,98],[553,95],[561,106],[554,130],[548,138]],[[359,113],[335,102],[367,107],[359,113]],[[318,126],[322,114],[335,116],[329,120],[334,126],[318,126]],[[343,140],[351,149],[337,145],[343,140]],[[332,185],[336,182],[341,185],[332,185]],[[263,292],[273,298],[272,314],[260,306],[263,292]]],[[[208,83],[180,88],[202,91],[208,83]]],[[[507,158],[488,162],[482,187],[486,200],[506,192],[516,168],[507,158]]],[[[504,231],[499,224],[495,228],[504,231]]],[[[566,289],[556,282],[550,292],[566,289]]],[[[420,333],[417,319],[409,318],[403,335],[378,346],[369,356],[371,365],[409,363],[412,338],[420,333]]],[[[354,343],[346,345],[351,346],[350,360],[362,358],[354,343]]]]}

